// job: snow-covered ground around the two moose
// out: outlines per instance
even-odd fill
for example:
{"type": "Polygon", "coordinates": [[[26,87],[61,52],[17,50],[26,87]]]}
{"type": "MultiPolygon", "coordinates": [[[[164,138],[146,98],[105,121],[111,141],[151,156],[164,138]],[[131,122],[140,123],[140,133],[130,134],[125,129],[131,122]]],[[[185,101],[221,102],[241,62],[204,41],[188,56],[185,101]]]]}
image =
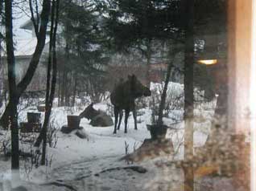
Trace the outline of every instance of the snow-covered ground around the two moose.
{"type": "MultiPolygon", "coordinates": [[[[180,84],[171,83],[170,87],[178,94],[182,91],[180,84]]],[[[95,104],[94,108],[106,111],[107,103],[105,101],[95,104]]],[[[171,166],[159,165],[166,161],[183,158],[184,122],[182,120],[174,123],[174,119],[164,119],[164,123],[171,126],[167,132],[167,138],[174,144],[175,156],[157,157],[127,165],[126,161],[120,160],[126,154],[126,145],[129,145],[130,153],[138,148],[143,140],[150,138],[146,124],[151,124],[151,109],[147,107],[138,111],[140,113],[138,130],[134,130],[134,120],[130,116],[128,133],[124,133],[124,122],[118,133],[114,135],[113,126],[92,127],[86,119],[81,120],[81,127],[88,135],[86,139],[79,138],[75,132],[70,134],[60,132],[60,128],[67,124],[66,116],[79,114],[86,106],[53,108],[51,124],[58,129],[56,148],[47,148],[47,166],[31,168],[31,162],[22,159],[20,164],[22,181],[19,184],[8,181],[10,180],[10,159],[3,161],[0,157],[0,190],[1,184],[4,188],[18,184],[27,190],[182,190],[184,184],[182,171],[171,166]],[[130,166],[139,166],[147,169],[147,172],[127,169],[130,166]]],[[[207,138],[214,106],[215,101],[196,105],[195,147],[203,145],[207,138]]],[[[26,120],[28,111],[35,111],[35,107],[19,112],[19,122],[26,120]]],[[[169,114],[169,116],[179,115],[183,115],[182,110],[172,111],[169,114]]],[[[43,117],[41,120],[43,121],[43,117]]],[[[8,142],[8,137],[10,137],[8,132],[0,132],[0,141],[8,142]]],[[[25,150],[31,150],[31,145],[24,141],[20,143],[20,147],[25,150]]]]}

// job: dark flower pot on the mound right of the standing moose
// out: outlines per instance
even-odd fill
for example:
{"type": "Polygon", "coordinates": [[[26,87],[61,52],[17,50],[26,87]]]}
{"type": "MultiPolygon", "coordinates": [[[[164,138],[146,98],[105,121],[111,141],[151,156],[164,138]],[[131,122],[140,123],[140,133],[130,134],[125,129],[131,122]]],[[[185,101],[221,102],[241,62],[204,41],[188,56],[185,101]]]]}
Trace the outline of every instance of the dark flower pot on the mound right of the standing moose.
{"type": "Polygon", "coordinates": [[[164,124],[162,124],[161,126],[157,124],[147,124],[147,130],[151,132],[152,140],[165,139],[167,128],[167,125],[164,124]]]}

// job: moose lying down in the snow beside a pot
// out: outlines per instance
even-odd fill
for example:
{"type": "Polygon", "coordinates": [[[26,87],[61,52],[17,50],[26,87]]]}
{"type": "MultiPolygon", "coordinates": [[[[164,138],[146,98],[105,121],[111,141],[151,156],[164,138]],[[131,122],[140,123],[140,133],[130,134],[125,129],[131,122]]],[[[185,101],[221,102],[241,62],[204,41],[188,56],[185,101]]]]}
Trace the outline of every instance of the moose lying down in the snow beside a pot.
{"type": "Polygon", "coordinates": [[[89,104],[89,106],[85,108],[84,112],[81,112],[79,116],[81,118],[85,117],[88,120],[91,120],[90,124],[93,127],[109,127],[114,124],[112,118],[105,112],[94,109],[93,103],[89,104]]]}

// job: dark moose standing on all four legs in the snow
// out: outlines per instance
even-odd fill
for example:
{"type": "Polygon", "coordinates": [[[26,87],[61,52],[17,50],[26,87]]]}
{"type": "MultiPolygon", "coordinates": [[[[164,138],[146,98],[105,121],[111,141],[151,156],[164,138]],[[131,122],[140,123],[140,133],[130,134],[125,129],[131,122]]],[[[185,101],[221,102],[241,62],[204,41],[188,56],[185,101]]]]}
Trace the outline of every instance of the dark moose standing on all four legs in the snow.
{"type": "Polygon", "coordinates": [[[114,105],[114,134],[119,130],[122,121],[122,110],[125,110],[125,133],[127,133],[127,120],[130,111],[134,116],[134,129],[137,130],[137,113],[135,99],[142,96],[150,96],[151,91],[140,83],[135,75],[128,75],[126,81],[119,82],[110,93],[111,104],[114,105]],[[118,121],[119,116],[119,121],[118,121]]]}

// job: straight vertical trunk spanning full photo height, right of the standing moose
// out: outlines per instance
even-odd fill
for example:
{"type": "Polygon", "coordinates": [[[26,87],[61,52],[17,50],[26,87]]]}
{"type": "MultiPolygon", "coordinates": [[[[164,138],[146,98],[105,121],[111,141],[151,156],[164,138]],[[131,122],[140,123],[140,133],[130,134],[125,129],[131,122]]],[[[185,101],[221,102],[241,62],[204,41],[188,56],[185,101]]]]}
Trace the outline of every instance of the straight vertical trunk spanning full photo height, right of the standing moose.
{"type": "Polygon", "coordinates": [[[184,190],[194,190],[193,169],[193,117],[194,117],[194,0],[185,0],[184,30],[185,30],[185,58],[184,58],[184,190]],[[186,13],[186,14],[185,14],[186,13]]]}

